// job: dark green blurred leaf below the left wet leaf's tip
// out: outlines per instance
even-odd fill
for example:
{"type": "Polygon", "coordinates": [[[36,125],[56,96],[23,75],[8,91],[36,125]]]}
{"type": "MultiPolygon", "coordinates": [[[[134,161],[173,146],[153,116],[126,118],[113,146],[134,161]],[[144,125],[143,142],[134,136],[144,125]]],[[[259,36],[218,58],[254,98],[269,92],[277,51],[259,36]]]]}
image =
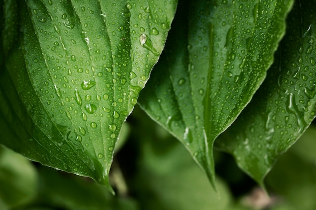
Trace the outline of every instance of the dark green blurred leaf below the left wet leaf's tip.
{"type": "Polygon", "coordinates": [[[36,202],[32,205],[50,206],[67,210],[138,209],[131,198],[113,196],[104,186],[90,179],[62,174],[42,167],[39,170],[40,189],[36,202]]]}

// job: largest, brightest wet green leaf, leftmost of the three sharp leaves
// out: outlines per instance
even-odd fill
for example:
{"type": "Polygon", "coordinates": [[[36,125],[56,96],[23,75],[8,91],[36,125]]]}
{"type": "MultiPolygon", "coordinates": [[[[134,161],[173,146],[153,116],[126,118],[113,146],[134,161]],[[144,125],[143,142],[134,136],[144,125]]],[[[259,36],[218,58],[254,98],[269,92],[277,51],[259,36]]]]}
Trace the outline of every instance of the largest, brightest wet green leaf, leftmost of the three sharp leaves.
{"type": "Polygon", "coordinates": [[[159,58],[176,5],[6,1],[0,143],[110,187],[122,123],[159,58]]]}

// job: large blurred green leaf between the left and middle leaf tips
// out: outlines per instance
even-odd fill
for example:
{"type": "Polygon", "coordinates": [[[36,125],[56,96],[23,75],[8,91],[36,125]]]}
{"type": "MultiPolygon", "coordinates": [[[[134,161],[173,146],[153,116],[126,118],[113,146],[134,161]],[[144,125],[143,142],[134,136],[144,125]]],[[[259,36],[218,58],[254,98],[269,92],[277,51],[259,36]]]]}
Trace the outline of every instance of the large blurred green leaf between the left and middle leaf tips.
{"type": "Polygon", "coordinates": [[[216,180],[219,196],[177,139],[137,107],[131,117],[134,141],[129,144],[139,152],[135,167],[126,173],[136,173],[129,176],[133,177],[129,186],[141,209],[235,209],[224,181],[216,180]]]}

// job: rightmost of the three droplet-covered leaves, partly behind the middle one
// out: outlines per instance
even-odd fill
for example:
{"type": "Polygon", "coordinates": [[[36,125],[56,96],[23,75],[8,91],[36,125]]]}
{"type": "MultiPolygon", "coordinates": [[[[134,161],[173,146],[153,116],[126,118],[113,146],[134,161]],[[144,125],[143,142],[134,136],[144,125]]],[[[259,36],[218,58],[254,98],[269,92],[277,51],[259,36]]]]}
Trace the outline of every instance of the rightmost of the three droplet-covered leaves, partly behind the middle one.
{"type": "Polygon", "coordinates": [[[315,117],[315,2],[297,2],[264,84],[217,147],[257,182],[315,117]]]}

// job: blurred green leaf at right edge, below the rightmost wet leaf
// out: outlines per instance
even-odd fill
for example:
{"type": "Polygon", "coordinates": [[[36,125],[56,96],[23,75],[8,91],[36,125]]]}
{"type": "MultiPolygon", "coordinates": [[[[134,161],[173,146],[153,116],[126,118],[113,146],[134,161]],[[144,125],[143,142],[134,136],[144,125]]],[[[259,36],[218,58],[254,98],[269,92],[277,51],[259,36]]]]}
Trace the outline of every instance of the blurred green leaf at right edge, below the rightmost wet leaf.
{"type": "Polygon", "coordinates": [[[283,154],[267,176],[267,187],[277,193],[293,209],[313,210],[316,208],[316,159],[315,127],[308,128],[285,154],[283,154]],[[310,149],[302,151],[306,145],[310,149]],[[312,150],[313,149],[313,150],[312,150]]]}

